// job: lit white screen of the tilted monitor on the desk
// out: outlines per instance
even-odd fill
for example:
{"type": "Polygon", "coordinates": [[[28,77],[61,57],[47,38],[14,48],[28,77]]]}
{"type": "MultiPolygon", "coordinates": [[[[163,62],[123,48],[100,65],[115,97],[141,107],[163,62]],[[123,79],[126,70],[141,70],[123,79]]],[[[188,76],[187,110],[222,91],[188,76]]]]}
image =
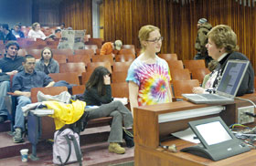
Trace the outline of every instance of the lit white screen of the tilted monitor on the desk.
{"type": "Polygon", "coordinates": [[[208,145],[214,145],[226,140],[232,140],[227,130],[219,121],[213,121],[196,126],[198,132],[208,145]]]}

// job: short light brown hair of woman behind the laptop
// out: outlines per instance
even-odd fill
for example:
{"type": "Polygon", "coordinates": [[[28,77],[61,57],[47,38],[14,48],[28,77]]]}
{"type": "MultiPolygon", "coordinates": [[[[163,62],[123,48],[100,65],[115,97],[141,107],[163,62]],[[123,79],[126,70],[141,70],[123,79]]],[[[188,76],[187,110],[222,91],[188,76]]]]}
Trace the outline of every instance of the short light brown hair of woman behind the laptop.
{"type": "Polygon", "coordinates": [[[208,32],[208,38],[210,38],[215,43],[216,47],[224,47],[228,53],[237,51],[239,49],[237,46],[237,35],[230,26],[214,26],[208,32]]]}

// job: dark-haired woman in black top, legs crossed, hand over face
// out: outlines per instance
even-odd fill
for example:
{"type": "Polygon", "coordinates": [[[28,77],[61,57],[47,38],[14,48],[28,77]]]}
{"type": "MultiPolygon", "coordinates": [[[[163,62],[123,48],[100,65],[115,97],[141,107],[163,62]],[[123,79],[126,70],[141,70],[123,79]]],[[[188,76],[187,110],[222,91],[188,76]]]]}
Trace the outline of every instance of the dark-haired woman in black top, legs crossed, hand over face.
{"type": "Polygon", "coordinates": [[[112,117],[111,132],[108,141],[109,151],[123,154],[125,149],[119,143],[123,142],[124,128],[133,126],[133,115],[121,101],[112,101],[110,71],[106,67],[96,67],[86,84],[84,100],[88,111],[86,120],[102,117],[112,117]],[[99,106],[92,109],[88,106],[99,106]]]}

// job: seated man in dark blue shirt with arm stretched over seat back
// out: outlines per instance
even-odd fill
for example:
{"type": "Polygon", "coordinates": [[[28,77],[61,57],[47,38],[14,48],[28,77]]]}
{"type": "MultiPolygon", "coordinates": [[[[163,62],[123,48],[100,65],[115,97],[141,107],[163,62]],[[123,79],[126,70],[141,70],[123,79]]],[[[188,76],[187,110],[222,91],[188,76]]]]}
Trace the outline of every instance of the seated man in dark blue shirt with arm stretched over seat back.
{"type": "Polygon", "coordinates": [[[25,131],[25,117],[22,107],[31,103],[31,88],[52,87],[54,81],[44,72],[35,71],[36,58],[27,55],[22,63],[24,70],[17,73],[13,78],[12,91],[17,96],[15,134],[13,140],[15,143],[23,142],[22,134],[25,131]]]}

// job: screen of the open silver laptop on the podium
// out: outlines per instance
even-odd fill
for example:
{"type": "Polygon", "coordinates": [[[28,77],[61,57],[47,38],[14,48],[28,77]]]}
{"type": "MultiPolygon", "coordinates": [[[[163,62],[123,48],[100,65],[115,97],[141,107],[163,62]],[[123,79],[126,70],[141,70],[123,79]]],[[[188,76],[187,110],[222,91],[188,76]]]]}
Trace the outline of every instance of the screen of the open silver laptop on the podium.
{"type": "Polygon", "coordinates": [[[217,91],[236,96],[241,81],[240,78],[243,78],[248,64],[248,61],[229,60],[219,82],[217,91]]]}

